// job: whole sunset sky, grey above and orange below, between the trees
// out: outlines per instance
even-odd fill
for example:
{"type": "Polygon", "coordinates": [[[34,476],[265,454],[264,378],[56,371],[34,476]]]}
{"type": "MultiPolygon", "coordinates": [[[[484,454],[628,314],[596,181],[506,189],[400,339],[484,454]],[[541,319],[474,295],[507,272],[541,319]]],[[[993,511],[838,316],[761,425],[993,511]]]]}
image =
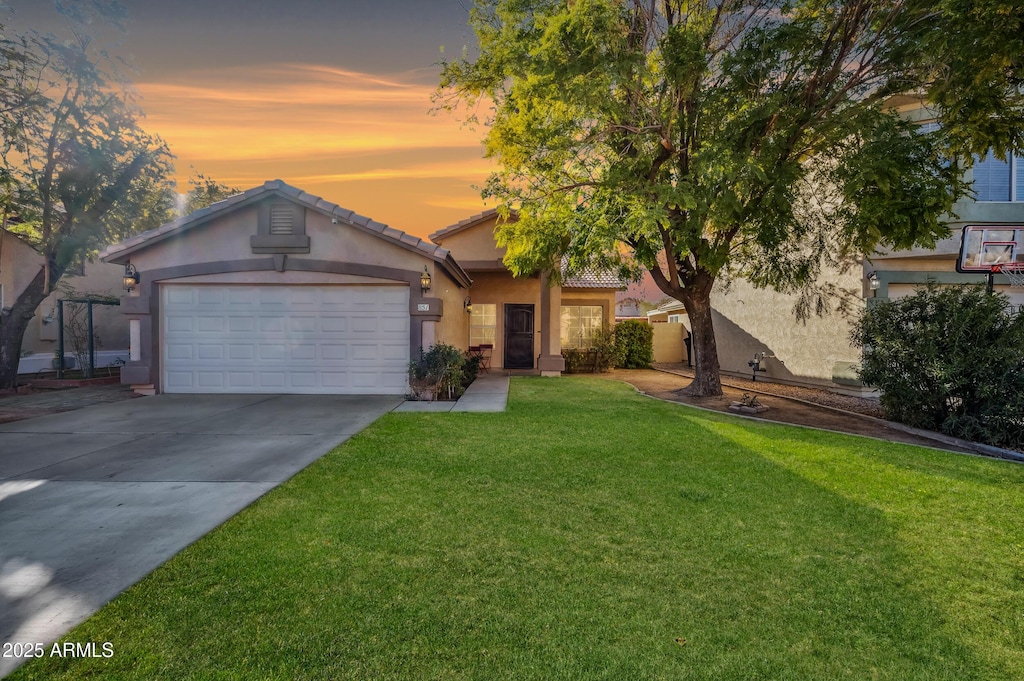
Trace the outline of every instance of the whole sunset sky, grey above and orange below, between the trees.
{"type": "MultiPolygon", "coordinates": [[[[441,48],[475,45],[471,0],[121,1],[115,51],[180,191],[190,166],[241,188],[281,178],[421,237],[487,208],[483,131],[429,113],[441,48]]],[[[48,0],[6,4],[11,27],[59,35],[48,0]]]]}

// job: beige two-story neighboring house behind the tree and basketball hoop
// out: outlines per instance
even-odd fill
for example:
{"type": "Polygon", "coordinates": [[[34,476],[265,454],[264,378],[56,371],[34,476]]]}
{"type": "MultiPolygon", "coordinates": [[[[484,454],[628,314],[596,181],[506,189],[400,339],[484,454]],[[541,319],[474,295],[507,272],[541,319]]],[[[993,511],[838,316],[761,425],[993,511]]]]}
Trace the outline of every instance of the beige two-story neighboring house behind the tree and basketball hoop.
{"type": "MultiPolygon", "coordinates": [[[[923,126],[937,125],[935,113],[920,99],[899,97],[890,103],[908,120],[923,126]]],[[[818,284],[845,292],[851,303],[845,314],[830,311],[799,322],[794,314],[795,296],[756,289],[741,279],[720,281],[712,293],[712,306],[723,374],[751,378],[749,363],[763,353],[760,379],[860,391],[862,386],[856,378],[860,350],[850,344],[852,324],[860,310],[873,301],[911,294],[929,282],[984,284],[985,273],[957,271],[965,227],[997,228],[995,235],[1024,230],[1024,158],[1000,160],[989,154],[977,160],[966,179],[973,182],[976,196],[956,204],[956,215],[949,220],[950,235],[935,248],[868,254],[859,266],[822,271],[818,284]]],[[[1024,245],[1021,253],[1016,244],[1000,248],[1007,259],[1024,261],[1024,245]]],[[[1024,305],[1024,290],[1012,288],[1007,276],[995,274],[993,285],[995,291],[1010,297],[1012,304],[1024,305]]],[[[648,318],[653,324],[687,323],[682,304],[675,302],[652,311],[648,318]]]]}

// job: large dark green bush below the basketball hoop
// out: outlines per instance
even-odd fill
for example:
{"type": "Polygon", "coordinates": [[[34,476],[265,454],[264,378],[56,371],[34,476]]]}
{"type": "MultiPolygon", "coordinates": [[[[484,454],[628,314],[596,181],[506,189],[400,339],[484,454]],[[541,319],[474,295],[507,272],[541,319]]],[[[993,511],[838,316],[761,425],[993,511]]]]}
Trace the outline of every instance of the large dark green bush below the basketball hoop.
{"type": "Polygon", "coordinates": [[[933,285],[868,309],[852,340],[889,419],[1024,446],[1024,315],[1006,296],[933,285]]]}

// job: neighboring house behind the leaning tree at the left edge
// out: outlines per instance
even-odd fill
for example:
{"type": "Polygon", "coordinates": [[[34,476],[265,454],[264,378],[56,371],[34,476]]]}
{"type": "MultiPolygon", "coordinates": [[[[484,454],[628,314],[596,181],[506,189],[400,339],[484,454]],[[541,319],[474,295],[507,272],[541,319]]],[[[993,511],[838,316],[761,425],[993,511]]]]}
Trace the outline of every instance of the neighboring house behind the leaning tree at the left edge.
{"type": "MultiPolygon", "coordinates": [[[[40,269],[43,256],[14,232],[0,229],[0,313],[8,310],[40,269]]],[[[69,289],[80,296],[120,296],[124,293],[124,268],[104,262],[86,261],[76,271],[65,274],[56,291],[36,308],[22,341],[18,374],[36,374],[53,367],[57,348],[57,299],[68,298],[69,289]]],[[[66,308],[66,314],[70,312],[66,308]]],[[[97,305],[93,327],[99,339],[96,367],[106,367],[128,358],[128,324],[117,307],[97,305]]],[[[72,356],[66,339],[65,356],[72,356]]]]}

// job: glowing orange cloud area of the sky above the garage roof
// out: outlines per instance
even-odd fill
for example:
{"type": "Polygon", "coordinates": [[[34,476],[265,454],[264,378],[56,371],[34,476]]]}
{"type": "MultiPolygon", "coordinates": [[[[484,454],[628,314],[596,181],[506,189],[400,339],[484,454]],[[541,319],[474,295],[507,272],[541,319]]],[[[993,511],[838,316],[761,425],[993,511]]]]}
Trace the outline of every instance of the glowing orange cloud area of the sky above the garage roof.
{"type": "Polygon", "coordinates": [[[321,65],[214,69],[136,88],[146,128],[233,186],[280,177],[399,229],[426,235],[485,208],[492,171],[480,130],[431,115],[436,74],[389,76],[321,65]],[[357,187],[357,191],[355,190],[357,187]]]}

